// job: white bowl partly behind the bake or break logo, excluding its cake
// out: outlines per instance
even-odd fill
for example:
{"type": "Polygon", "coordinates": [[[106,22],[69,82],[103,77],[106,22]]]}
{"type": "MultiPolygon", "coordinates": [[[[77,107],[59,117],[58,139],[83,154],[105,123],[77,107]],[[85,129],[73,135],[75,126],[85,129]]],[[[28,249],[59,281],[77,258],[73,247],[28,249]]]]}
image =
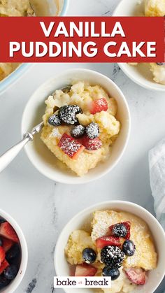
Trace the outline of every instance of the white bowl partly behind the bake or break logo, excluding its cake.
{"type": "MultiPolygon", "coordinates": [[[[133,213],[138,217],[141,217],[150,228],[152,236],[155,240],[155,246],[158,253],[158,263],[157,269],[154,269],[148,273],[148,282],[144,286],[138,287],[138,289],[134,293],[152,293],[155,292],[159,284],[162,282],[165,274],[165,234],[164,229],[159,224],[159,222],[155,219],[148,210],[138,206],[135,203],[131,203],[128,201],[105,201],[102,203],[97,203],[94,206],[90,206],[82,212],[78,213],[75,217],[71,219],[68,224],[64,227],[59,238],[57,240],[56,248],[55,248],[55,270],[57,276],[69,276],[69,264],[66,262],[66,257],[64,255],[64,248],[68,241],[69,235],[72,231],[76,229],[82,229],[86,224],[90,224],[92,219],[92,213],[96,210],[124,210],[129,213],[133,213]],[[141,291],[142,290],[142,291],[141,291]]],[[[87,226],[86,226],[87,227],[87,226]]],[[[74,289],[66,289],[64,288],[66,293],[74,293],[74,289]]],[[[91,289],[77,289],[78,293],[94,293],[91,289]]]]}

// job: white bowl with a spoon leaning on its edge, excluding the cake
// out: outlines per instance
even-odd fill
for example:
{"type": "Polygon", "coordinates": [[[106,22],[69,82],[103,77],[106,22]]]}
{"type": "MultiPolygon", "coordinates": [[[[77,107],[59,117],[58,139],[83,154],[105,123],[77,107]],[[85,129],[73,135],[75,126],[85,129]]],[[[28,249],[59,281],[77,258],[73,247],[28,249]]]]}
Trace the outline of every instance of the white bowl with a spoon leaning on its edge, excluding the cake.
{"type": "Polygon", "coordinates": [[[23,113],[22,135],[31,130],[34,125],[41,122],[42,115],[45,113],[44,101],[48,95],[56,89],[71,84],[73,80],[87,80],[91,84],[99,84],[108,92],[110,97],[114,97],[118,103],[117,118],[120,120],[122,128],[113,145],[110,158],[108,158],[106,162],[96,166],[96,168],[91,169],[85,176],[80,178],[69,171],[63,171],[57,168],[55,155],[52,155],[52,152],[43,144],[39,135],[34,138],[32,143],[28,143],[25,146],[27,156],[38,171],[52,180],[67,184],[87,183],[100,178],[112,170],[124,153],[130,132],[129,108],[119,87],[101,73],[87,69],[72,69],[46,81],[34,92],[23,113]]]}

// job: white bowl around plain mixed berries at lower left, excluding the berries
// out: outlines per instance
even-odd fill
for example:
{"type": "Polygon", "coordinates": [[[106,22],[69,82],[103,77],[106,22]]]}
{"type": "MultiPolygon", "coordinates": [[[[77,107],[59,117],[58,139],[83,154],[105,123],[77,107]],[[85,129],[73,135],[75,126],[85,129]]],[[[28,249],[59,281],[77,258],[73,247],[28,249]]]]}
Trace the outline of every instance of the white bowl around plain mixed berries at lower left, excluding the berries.
{"type": "Polygon", "coordinates": [[[1,293],[13,293],[15,292],[17,287],[20,285],[22,279],[24,278],[24,273],[27,269],[27,259],[28,259],[27,242],[24,238],[24,234],[22,233],[22,229],[17,224],[17,222],[15,222],[13,217],[8,215],[8,213],[4,212],[1,209],[0,209],[0,216],[3,217],[7,222],[9,222],[10,225],[13,227],[13,229],[15,229],[15,232],[17,233],[17,236],[20,240],[20,247],[21,247],[20,269],[15,279],[8,286],[0,290],[1,293]]]}

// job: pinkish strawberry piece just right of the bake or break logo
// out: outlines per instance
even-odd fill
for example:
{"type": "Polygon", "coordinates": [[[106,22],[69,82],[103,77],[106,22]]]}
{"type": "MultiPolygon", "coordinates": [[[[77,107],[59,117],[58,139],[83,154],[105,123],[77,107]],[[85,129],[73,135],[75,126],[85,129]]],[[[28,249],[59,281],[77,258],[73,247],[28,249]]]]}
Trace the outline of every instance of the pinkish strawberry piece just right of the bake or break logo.
{"type": "Polygon", "coordinates": [[[124,269],[124,272],[127,275],[127,278],[131,281],[131,283],[136,285],[144,285],[146,280],[146,274],[143,269],[138,268],[130,268],[124,269]]]}

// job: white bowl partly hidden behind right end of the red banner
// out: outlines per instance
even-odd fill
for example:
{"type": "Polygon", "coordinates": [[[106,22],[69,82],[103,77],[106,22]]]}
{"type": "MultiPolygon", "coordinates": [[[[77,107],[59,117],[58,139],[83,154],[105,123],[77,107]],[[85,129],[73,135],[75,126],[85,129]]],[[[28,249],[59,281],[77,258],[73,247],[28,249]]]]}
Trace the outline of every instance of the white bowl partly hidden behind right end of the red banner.
{"type": "MultiPolygon", "coordinates": [[[[115,11],[113,16],[144,16],[144,0],[122,0],[115,11]]],[[[127,63],[119,63],[122,71],[141,87],[148,90],[157,90],[165,92],[165,85],[155,83],[153,80],[152,72],[150,71],[149,64],[138,64],[138,66],[131,66],[127,63]]]]}

